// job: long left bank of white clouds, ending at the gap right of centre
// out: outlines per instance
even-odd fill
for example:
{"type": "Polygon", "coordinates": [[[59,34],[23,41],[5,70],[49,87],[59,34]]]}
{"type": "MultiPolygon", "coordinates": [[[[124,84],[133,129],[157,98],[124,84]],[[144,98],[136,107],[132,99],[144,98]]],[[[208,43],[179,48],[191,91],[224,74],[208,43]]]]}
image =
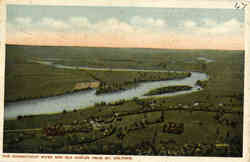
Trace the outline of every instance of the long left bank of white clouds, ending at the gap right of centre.
{"type": "Polygon", "coordinates": [[[44,17],[39,21],[32,21],[28,17],[18,17],[12,22],[8,22],[8,29],[14,32],[20,31],[48,31],[48,32],[139,32],[153,31],[156,27],[165,26],[165,22],[160,19],[133,17],[133,23],[121,21],[117,18],[107,18],[92,23],[87,17],[71,17],[66,20],[44,17]],[[25,24],[25,26],[24,26],[25,24]],[[154,28],[152,28],[154,27],[154,28]]]}

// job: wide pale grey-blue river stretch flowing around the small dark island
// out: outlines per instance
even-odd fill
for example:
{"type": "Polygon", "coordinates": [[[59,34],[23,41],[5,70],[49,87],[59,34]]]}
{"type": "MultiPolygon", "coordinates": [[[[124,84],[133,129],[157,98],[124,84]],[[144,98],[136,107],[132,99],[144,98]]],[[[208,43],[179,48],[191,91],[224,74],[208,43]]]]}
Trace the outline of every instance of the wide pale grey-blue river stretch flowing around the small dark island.
{"type": "Polygon", "coordinates": [[[201,88],[195,85],[196,81],[206,79],[208,79],[208,76],[206,74],[192,72],[191,77],[188,78],[140,83],[136,88],[116,93],[95,95],[96,90],[92,89],[88,91],[80,91],[61,96],[11,102],[5,104],[4,118],[9,119],[16,118],[18,115],[56,113],[62,112],[63,110],[86,108],[89,106],[93,106],[95,103],[99,103],[101,101],[108,103],[121,99],[128,100],[132,99],[133,97],[146,98],[146,96],[143,96],[145,93],[152,89],[164,86],[188,85],[192,86],[193,88],[188,91],[167,93],[159,96],[174,96],[179,94],[187,94],[199,91],[201,88]]]}

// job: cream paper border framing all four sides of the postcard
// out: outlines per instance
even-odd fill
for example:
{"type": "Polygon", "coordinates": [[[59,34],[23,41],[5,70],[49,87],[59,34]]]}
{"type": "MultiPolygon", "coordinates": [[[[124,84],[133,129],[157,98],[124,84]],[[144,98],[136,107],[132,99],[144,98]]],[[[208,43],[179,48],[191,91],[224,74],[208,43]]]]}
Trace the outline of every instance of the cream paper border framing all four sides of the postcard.
{"type": "MultiPolygon", "coordinates": [[[[5,63],[5,23],[6,23],[6,6],[4,5],[5,1],[0,0],[0,107],[1,110],[4,110],[4,63],[5,63]]],[[[234,1],[228,0],[7,0],[8,4],[26,4],[26,5],[84,5],[84,6],[134,6],[134,7],[167,7],[167,8],[233,8],[234,1]]],[[[250,7],[247,6],[245,9],[245,89],[244,89],[244,146],[243,146],[243,158],[223,158],[223,157],[163,157],[163,156],[132,156],[133,161],[166,161],[166,162],[250,162],[249,151],[250,151],[250,110],[248,109],[249,105],[249,90],[250,86],[248,83],[250,79],[249,75],[249,65],[250,56],[248,56],[250,51],[249,38],[250,38],[250,7]]],[[[3,118],[3,111],[0,111],[0,119],[3,118]]],[[[0,121],[0,141],[3,141],[3,120],[0,121]]],[[[0,142],[0,152],[2,153],[2,142],[0,142]]],[[[10,154],[13,155],[13,154],[10,154]]],[[[18,155],[18,154],[17,154],[18,155]]],[[[31,155],[31,154],[22,154],[22,155],[31,155]]],[[[39,155],[39,154],[32,154],[39,155]]],[[[46,155],[46,154],[44,154],[46,155]]],[[[47,154],[55,155],[55,154],[47,154]]],[[[59,155],[59,154],[57,154],[59,155]]],[[[65,156],[65,154],[60,154],[65,156]]],[[[77,155],[72,155],[77,156],[77,155]]],[[[99,155],[92,155],[99,156],[99,155]]],[[[91,157],[91,155],[90,155],[91,157]]],[[[105,156],[104,156],[105,157],[105,156]]],[[[112,156],[112,157],[115,157],[112,156]]],[[[28,159],[28,158],[15,158],[8,159],[2,158],[0,155],[0,161],[16,161],[16,162],[29,162],[29,161],[66,161],[64,160],[51,160],[51,159],[28,159]]],[[[68,161],[79,161],[70,159],[68,161]]],[[[101,160],[81,160],[81,161],[101,161],[101,160]]],[[[105,160],[109,161],[109,160],[105,160]]],[[[127,162],[131,160],[119,160],[122,162],[127,162]]]]}

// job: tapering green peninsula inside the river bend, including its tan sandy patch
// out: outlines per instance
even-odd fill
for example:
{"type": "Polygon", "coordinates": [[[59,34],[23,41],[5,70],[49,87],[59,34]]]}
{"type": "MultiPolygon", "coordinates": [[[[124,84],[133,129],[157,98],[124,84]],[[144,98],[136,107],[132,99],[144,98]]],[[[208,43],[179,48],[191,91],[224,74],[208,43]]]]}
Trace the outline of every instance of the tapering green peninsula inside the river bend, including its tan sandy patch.
{"type": "Polygon", "coordinates": [[[5,77],[5,102],[7,103],[60,96],[89,89],[97,89],[97,94],[105,94],[134,88],[139,83],[147,81],[182,79],[191,75],[189,72],[166,70],[137,71],[134,69],[135,71],[132,71],[132,69],[54,67],[30,62],[27,59],[22,55],[11,55],[11,58],[7,58],[5,77]],[[18,69],[10,71],[16,67],[18,69]]]}

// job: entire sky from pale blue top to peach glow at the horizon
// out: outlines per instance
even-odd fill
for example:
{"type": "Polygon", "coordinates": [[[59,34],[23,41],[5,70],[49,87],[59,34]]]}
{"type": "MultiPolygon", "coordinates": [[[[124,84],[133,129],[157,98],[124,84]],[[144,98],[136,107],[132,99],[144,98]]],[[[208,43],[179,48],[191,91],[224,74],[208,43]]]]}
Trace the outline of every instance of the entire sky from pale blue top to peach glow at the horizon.
{"type": "Polygon", "coordinates": [[[7,43],[244,49],[244,11],[204,8],[7,6],[7,43]]]}

